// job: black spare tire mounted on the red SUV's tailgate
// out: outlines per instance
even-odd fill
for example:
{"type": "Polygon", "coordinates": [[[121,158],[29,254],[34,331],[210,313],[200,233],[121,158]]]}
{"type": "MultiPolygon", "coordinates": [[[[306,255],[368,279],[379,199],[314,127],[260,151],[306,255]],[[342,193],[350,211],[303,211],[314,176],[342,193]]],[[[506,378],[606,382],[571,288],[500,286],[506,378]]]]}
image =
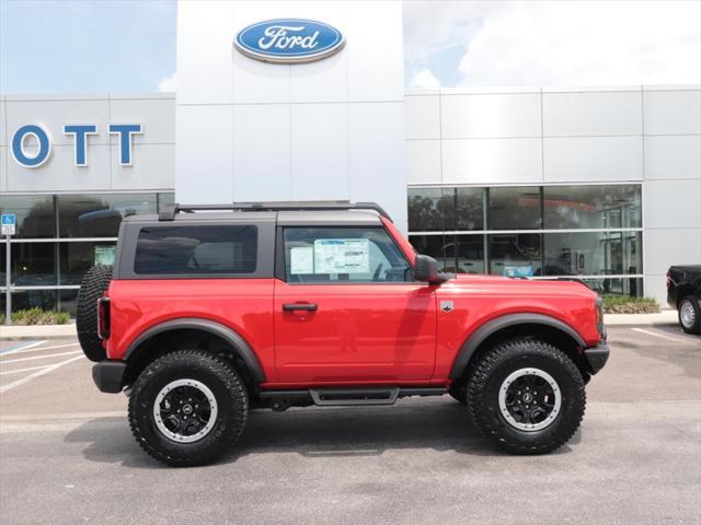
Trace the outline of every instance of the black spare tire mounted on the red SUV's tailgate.
{"type": "Polygon", "coordinates": [[[106,358],[102,340],[97,337],[97,300],[102,298],[112,280],[112,266],[93,266],[80,283],[76,327],[78,341],[91,361],[106,358]]]}

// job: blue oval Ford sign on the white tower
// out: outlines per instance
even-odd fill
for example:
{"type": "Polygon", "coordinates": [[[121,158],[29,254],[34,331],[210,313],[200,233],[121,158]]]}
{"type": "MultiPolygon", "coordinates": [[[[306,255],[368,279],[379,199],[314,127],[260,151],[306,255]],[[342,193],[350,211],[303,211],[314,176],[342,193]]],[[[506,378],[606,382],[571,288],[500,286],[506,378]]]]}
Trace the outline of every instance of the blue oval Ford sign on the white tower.
{"type": "Polygon", "coordinates": [[[241,30],[235,46],[244,55],[266,62],[311,62],[341,50],[345,39],[322,22],[276,19],[241,30]]]}

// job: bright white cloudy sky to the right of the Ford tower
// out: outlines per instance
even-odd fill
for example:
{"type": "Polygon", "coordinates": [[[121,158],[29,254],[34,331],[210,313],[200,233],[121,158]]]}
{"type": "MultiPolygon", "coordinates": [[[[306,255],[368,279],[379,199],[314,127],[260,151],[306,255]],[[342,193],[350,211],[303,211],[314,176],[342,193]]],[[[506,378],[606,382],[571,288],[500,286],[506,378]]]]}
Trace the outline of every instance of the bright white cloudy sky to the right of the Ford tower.
{"type": "Polygon", "coordinates": [[[404,31],[444,85],[701,83],[696,1],[411,2],[404,31]]]}

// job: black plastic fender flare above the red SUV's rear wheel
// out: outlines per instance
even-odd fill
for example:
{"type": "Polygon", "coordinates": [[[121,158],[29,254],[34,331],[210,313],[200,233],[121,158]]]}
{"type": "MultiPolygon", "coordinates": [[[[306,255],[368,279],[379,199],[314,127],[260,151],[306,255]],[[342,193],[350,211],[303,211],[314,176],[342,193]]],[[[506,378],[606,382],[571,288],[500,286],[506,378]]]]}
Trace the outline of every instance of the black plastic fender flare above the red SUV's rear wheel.
{"type": "Polygon", "coordinates": [[[228,326],[225,326],[215,320],[200,319],[196,317],[172,319],[152,326],[151,328],[141,332],[134,341],[131,341],[126,352],[124,352],[123,360],[128,361],[129,358],[131,358],[133,354],[137,351],[137,349],[151,337],[163,334],[165,331],[183,329],[207,331],[229,342],[233,348],[235,354],[243,360],[248,369],[251,371],[251,374],[253,375],[255,381],[257,383],[265,382],[265,374],[263,373],[263,368],[261,366],[258,359],[255,357],[253,349],[239,334],[237,334],[228,326]]]}

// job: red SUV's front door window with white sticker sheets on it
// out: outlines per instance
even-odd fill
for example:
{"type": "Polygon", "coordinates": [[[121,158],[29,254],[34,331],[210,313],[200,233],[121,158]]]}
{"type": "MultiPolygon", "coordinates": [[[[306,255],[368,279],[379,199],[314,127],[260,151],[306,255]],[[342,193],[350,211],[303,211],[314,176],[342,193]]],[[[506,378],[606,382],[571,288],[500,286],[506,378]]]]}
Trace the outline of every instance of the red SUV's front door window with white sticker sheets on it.
{"type": "Polygon", "coordinates": [[[411,267],[382,228],[286,228],[287,282],[404,282],[411,267]]]}

